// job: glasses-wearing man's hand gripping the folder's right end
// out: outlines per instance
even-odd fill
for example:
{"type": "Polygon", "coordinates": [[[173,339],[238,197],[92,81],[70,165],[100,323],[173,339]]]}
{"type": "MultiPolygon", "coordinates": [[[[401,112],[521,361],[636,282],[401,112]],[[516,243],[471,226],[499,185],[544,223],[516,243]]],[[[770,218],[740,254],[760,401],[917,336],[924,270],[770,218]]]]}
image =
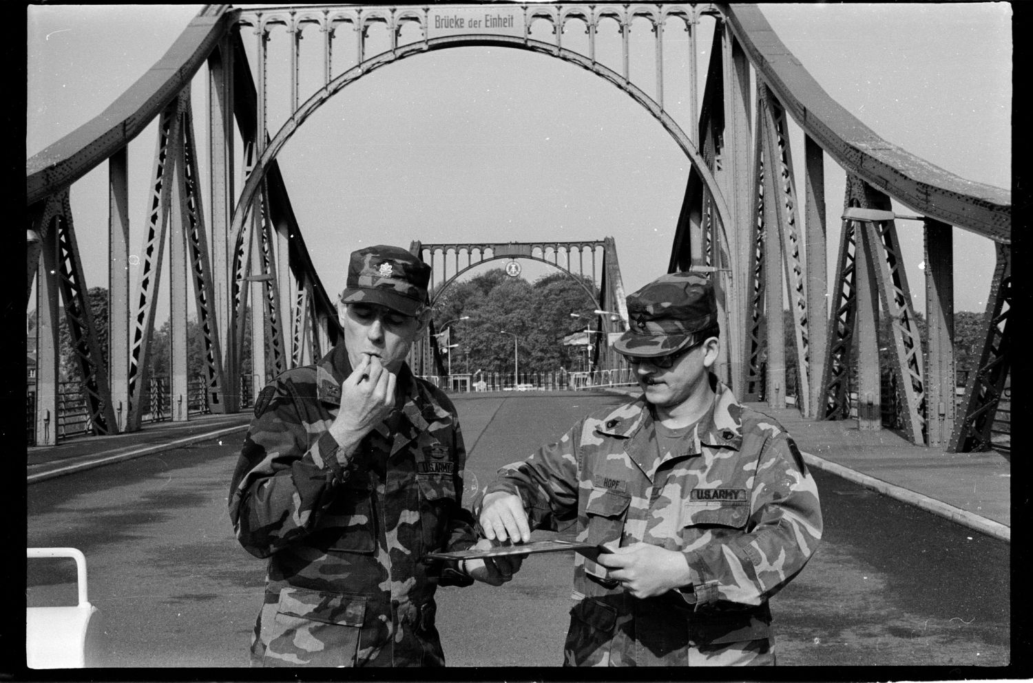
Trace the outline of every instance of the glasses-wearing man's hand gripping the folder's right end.
{"type": "Polygon", "coordinates": [[[683,553],[649,543],[636,543],[600,553],[596,560],[606,567],[608,579],[619,581],[635,597],[653,597],[692,582],[683,553]]]}

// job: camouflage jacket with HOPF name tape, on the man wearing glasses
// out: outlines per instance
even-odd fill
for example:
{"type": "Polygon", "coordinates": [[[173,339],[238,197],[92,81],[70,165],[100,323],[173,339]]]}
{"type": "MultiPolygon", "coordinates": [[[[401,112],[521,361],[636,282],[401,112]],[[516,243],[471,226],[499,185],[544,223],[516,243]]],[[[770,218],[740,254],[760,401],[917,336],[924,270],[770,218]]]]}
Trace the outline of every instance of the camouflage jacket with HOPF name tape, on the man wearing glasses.
{"type": "Polygon", "coordinates": [[[768,598],[814,553],[818,491],[781,425],[711,380],[713,410],[681,453],[658,452],[639,397],[593,413],[488,488],[520,495],[532,528],[575,521],[578,541],[686,554],[691,584],[646,599],[575,555],[568,665],[774,663],[768,598]]]}

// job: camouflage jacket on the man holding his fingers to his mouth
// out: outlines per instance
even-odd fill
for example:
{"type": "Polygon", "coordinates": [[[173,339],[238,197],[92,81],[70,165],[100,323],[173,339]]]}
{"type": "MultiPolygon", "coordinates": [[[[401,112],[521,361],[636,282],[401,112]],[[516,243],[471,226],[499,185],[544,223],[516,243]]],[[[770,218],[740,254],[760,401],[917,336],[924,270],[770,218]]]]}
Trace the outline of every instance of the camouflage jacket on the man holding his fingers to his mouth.
{"type": "Polygon", "coordinates": [[[405,365],[404,405],[349,457],[327,429],[350,372],[339,344],[256,401],[229,493],[237,539],[269,558],[254,665],[443,664],[435,588],[472,583],[419,561],[476,542],[455,406],[405,365]]]}

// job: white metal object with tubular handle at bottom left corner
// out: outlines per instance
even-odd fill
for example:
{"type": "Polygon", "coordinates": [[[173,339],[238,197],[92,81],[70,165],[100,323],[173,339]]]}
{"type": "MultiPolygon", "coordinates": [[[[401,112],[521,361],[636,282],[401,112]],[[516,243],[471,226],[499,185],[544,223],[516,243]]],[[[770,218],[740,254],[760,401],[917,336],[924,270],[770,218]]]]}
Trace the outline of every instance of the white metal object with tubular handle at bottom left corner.
{"type": "Polygon", "coordinates": [[[75,548],[28,548],[28,559],[75,560],[77,605],[30,607],[25,616],[25,653],[29,669],[83,669],[103,665],[106,641],[100,611],[90,604],[86,556],[75,548]]]}

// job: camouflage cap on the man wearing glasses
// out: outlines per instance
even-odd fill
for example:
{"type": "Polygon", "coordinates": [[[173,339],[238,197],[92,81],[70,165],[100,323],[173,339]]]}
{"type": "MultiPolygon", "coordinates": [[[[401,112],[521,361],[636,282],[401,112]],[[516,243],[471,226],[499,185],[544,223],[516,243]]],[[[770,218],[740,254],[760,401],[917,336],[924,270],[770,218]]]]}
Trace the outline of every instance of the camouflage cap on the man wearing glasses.
{"type": "Polygon", "coordinates": [[[629,356],[655,358],[702,342],[717,326],[714,285],[697,272],[670,272],[628,296],[629,329],[614,349],[629,356]]]}

